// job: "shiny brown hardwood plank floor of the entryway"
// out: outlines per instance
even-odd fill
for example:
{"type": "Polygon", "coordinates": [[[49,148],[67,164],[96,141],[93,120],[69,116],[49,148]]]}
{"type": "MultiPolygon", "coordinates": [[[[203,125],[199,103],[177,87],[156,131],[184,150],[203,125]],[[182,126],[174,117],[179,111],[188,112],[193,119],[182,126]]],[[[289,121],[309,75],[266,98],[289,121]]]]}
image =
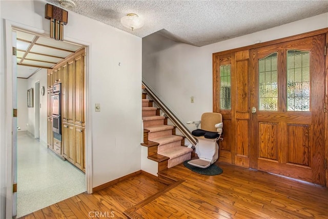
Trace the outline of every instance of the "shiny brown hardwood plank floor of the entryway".
{"type": "Polygon", "coordinates": [[[162,171],[165,185],[140,174],[91,195],[82,193],[22,218],[328,218],[328,189],[217,163],[200,175],[182,164],[162,171]]]}

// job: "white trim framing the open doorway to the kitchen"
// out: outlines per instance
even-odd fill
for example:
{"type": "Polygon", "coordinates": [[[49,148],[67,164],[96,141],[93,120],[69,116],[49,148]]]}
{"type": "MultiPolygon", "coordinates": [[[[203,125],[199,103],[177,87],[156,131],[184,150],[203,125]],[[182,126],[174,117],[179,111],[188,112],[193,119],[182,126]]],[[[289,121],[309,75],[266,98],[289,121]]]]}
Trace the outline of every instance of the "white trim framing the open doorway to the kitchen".
{"type": "MultiPolygon", "coordinates": [[[[13,69],[12,69],[12,31],[13,28],[24,29],[27,31],[35,32],[41,35],[49,36],[49,32],[41,29],[37,29],[31,26],[27,26],[24,24],[20,24],[17,22],[10,21],[8,19],[4,19],[5,21],[5,32],[4,35],[6,37],[6,66],[5,66],[5,87],[4,91],[4,110],[5,113],[0,115],[0,120],[5,121],[4,124],[4,144],[7,151],[6,154],[6,218],[12,218],[12,200],[13,200],[13,193],[12,193],[12,185],[13,185],[13,166],[12,166],[12,89],[13,89],[13,69]]],[[[91,69],[91,43],[81,41],[76,38],[70,38],[64,36],[65,41],[77,43],[86,46],[86,80],[85,80],[85,94],[86,94],[86,104],[85,104],[85,112],[86,112],[86,191],[90,194],[92,193],[92,112],[89,109],[90,106],[90,94],[89,94],[89,86],[91,82],[89,80],[89,69],[91,69]]]]}

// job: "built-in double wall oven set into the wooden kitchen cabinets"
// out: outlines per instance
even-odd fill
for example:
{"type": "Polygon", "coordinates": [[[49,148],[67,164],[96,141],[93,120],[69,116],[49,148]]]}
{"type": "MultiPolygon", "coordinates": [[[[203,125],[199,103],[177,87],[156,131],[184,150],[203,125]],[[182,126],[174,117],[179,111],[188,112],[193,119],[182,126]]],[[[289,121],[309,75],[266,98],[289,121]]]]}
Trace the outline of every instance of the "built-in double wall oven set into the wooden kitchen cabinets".
{"type": "Polygon", "coordinates": [[[51,95],[52,108],[52,131],[61,134],[61,120],[60,120],[60,95],[61,83],[53,85],[51,95]]]}

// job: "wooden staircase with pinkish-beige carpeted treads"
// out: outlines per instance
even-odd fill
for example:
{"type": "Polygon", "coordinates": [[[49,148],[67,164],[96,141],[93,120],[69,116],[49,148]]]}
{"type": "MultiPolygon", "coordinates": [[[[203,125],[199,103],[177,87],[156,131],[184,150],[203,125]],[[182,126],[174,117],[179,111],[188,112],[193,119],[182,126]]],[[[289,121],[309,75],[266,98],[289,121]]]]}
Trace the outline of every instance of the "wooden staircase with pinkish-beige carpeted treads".
{"type": "Polygon", "coordinates": [[[167,117],[142,93],[142,120],[144,121],[144,143],[148,147],[148,158],[158,162],[158,172],[190,160],[193,149],[185,146],[185,138],[175,135],[175,126],[168,125],[167,117]]]}

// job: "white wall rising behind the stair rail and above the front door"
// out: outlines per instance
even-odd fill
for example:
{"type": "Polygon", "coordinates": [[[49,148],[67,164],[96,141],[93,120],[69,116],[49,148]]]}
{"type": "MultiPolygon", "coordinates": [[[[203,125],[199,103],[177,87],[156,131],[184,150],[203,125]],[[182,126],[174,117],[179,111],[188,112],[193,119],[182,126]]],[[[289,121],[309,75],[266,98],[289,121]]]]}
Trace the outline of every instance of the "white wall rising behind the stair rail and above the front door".
{"type": "Polygon", "coordinates": [[[326,27],[328,13],[203,47],[177,43],[154,33],[142,38],[142,77],[182,121],[200,120],[203,112],[213,111],[213,53],[326,27]]]}

